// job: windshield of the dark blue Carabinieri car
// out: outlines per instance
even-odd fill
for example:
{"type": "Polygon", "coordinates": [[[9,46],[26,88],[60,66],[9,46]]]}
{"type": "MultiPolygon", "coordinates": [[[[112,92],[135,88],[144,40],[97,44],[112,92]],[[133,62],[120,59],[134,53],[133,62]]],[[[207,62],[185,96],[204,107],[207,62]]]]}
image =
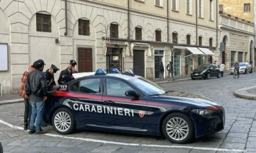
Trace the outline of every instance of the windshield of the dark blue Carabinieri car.
{"type": "Polygon", "coordinates": [[[163,87],[146,78],[136,78],[129,80],[129,82],[138,87],[145,95],[161,95],[166,93],[163,87]]]}

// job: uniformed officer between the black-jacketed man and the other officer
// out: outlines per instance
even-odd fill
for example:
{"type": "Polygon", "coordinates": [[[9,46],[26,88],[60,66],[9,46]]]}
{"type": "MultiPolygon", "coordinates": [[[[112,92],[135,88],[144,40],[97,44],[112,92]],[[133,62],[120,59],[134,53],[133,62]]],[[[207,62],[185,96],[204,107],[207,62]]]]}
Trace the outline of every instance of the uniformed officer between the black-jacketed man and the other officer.
{"type": "Polygon", "coordinates": [[[57,70],[59,70],[58,67],[56,67],[54,64],[51,64],[51,67],[47,69],[46,72],[44,72],[46,75],[48,91],[54,90],[58,87],[54,80],[54,73],[56,73],[57,70]]]}

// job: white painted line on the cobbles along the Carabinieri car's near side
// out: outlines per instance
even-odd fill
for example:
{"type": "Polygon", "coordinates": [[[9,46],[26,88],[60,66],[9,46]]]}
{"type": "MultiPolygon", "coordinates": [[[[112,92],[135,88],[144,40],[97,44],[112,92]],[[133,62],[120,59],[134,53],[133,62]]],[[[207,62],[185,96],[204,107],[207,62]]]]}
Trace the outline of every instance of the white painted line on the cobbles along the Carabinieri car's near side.
{"type": "MultiPolygon", "coordinates": [[[[23,130],[23,127],[20,126],[14,126],[10,123],[7,123],[5,121],[0,120],[0,123],[5,124],[9,127],[12,127],[14,129],[20,129],[23,130]]],[[[69,138],[73,140],[83,140],[83,141],[91,141],[96,143],[107,143],[107,144],[119,144],[124,146],[145,146],[145,147],[158,147],[158,148],[188,148],[188,149],[197,149],[197,150],[204,150],[204,151],[224,151],[224,152],[246,152],[246,150],[241,149],[222,149],[222,148],[203,148],[203,147],[193,147],[193,146],[168,146],[168,145],[157,145],[157,144],[142,144],[142,143],[120,143],[115,141],[104,141],[104,140],[96,140],[93,138],[79,138],[79,137],[66,137],[63,135],[57,135],[57,134],[44,134],[48,135],[50,137],[60,137],[60,138],[69,138]]]]}

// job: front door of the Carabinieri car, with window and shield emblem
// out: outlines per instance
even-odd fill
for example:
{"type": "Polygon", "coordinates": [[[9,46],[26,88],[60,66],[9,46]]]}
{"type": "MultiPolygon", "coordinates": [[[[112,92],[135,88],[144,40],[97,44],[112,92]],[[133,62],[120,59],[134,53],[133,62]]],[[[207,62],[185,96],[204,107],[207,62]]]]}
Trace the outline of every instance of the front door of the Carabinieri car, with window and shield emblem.
{"type": "Polygon", "coordinates": [[[104,126],[119,130],[144,131],[147,123],[147,102],[144,98],[127,97],[127,90],[134,90],[126,81],[105,78],[104,126]]]}

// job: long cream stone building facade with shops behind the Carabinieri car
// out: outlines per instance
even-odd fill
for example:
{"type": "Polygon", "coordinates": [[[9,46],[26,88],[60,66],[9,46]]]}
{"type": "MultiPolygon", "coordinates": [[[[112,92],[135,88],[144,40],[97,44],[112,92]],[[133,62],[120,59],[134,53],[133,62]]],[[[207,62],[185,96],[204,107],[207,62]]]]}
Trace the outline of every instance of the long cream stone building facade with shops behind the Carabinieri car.
{"type": "Polygon", "coordinates": [[[79,72],[117,67],[148,79],[158,78],[161,61],[174,61],[175,75],[221,62],[214,0],[0,0],[0,19],[1,95],[18,93],[38,59],[44,70],[76,60],[79,72]]]}

